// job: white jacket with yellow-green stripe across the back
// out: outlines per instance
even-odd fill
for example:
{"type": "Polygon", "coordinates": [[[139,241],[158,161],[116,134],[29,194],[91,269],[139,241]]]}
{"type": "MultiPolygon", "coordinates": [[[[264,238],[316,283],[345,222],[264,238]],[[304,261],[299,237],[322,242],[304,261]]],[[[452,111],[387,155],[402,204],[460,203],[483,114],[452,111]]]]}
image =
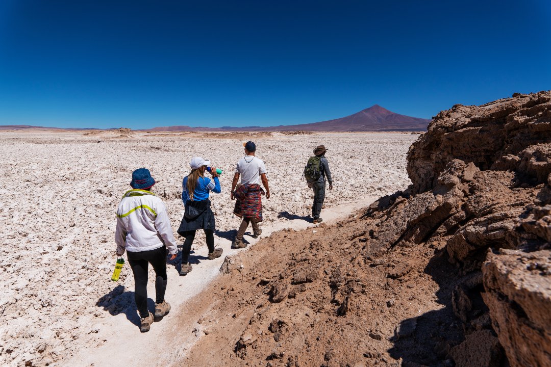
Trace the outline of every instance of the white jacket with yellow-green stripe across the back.
{"type": "Polygon", "coordinates": [[[166,207],[158,196],[146,190],[129,190],[117,208],[115,231],[117,254],[158,249],[178,252],[166,207]]]}

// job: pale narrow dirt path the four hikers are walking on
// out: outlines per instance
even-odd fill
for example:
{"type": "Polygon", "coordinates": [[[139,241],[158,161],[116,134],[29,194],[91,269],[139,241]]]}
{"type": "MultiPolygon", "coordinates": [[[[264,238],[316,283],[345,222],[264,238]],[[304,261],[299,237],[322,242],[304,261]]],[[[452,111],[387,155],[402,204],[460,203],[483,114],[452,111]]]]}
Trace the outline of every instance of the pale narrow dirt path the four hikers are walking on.
{"type": "MultiPolygon", "coordinates": [[[[331,224],[339,218],[349,215],[351,212],[368,206],[376,196],[368,196],[360,202],[353,204],[342,204],[322,211],[324,223],[331,224]]],[[[273,232],[281,229],[305,229],[315,227],[314,224],[306,221],[305,218],[288,216],[279,218],[270,223],[268,227],[262,227],[261,238],[268,237],[273,232]]],[[[246,237],[254,245],[258,239],[246,237]]],[[[101,341],[98,346],[81,349],[73,358],[64,365],[71,366],[104,366],[117,361],[122,365],[149,365],[164,366],[179,360],[186,353],[186,350],[195,343],[194,326],[196,323],[185,322],[186,302],[200,292],[208,291],[210,282],[220,274],[220,266],[225,256],[231,256],[244,250],[230,249],[231,241],[223,237],[215,237],[218,247],[224,249],[224,254],[219,259],[206,260],[206,246],[199,247],[191,256],[193,270],[185,277],[180,277],[174,265],[169,265],[169,281],[166,289],[166,300],[171,304],[170,314],[159,323],[152,325],[147,333],[139,332],[139,317],[135,310],[128,308],[125,313],[108,316],[96,324],[97,338],[101,341]],[[176,317],[177,316],[177,317],[176,317]],[[175,320],[182,322],[175,324],[175,320]],[[183,341],[183,343],[182,343],[183,341]]],[[[129,271],[129,268],[126,269],[129,271]]],[[[122,291],[122,290],[121,290],[122,291]]],[[[121,291],[116,291],[120,294],[121,291]]],[[[127,297],[133,297],[132,289],[124,289],[127,297]]],[[[150,308],[153,307],[152,295],[154,295],[154,282],[150,279],[148,284],[148,295],[150,308]]],[[[210,305],[205,305],[209,308],[210,305]]],[[[103,311],[107,312],[107,311],[103,311]]],[[[94,316],[81,317],[79,323],[94,322],[94,316]]],[[[75,342],[78,342],[75,341],[75,342]]]]}

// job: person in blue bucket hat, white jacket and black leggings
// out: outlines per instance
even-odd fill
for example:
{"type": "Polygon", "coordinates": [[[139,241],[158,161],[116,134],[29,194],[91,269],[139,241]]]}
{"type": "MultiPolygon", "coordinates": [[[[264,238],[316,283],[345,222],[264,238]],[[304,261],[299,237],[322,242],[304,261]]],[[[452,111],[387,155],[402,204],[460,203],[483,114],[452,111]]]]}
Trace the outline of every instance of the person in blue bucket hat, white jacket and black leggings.
{"type": "Polygon", "coordinates": [[[140,316],[140,330],[149,331],[153,314],[147,308],[148,266],[155,271],[155,321],[170,311],[165,301],[166,251],[176,259],[178,248],[163,200],[152,193],[155,180],[147,168],[132,172],[132,190],[126,192],[117,207],[115,243],[117,256],[127,251],[134,274],[134,300],[140,316]]]}

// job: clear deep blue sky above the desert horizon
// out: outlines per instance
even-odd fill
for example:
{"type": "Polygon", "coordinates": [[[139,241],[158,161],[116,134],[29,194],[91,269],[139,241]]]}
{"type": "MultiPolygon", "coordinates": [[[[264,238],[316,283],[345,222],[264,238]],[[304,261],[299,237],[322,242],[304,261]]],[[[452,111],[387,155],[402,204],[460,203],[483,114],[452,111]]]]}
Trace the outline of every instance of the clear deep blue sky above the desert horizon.
{"type": "Polygon", "coordinates": [[[430,118],[549,89],[548,0],[0,2],[0,125],[430,118]]]}

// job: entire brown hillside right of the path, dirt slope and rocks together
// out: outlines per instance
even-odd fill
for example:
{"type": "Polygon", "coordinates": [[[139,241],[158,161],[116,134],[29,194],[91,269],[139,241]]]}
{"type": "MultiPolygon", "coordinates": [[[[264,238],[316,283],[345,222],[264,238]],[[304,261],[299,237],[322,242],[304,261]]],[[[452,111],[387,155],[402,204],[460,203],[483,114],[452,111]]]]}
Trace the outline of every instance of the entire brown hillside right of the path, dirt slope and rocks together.
{"type": "Polygon", "coordinates": [[[224,363],[551,365],[549,108],[551,91],[441,112],[409,188],[256,244],[225,283],[220,318],[249,306],[224,363]]]}

